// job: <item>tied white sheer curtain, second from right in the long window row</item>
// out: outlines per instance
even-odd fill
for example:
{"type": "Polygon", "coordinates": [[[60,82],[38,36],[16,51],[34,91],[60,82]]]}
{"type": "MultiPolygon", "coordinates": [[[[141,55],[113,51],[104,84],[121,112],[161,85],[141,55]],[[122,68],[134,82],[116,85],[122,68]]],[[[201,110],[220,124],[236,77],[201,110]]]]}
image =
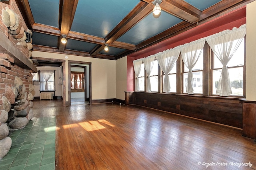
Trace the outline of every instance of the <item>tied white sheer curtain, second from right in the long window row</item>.
{"type": "Polygon", "coordinates": [[[184,45],[181,45],[181,55],[182,60],[186,67],[188,67],[188,81],[187,81],[187,87],[186,92],[188,94],[194,94],[193,89],[193,73],[192,69],[195,66],[196,62],[198,61],[198,58],[200,54],[202,53],[202,49],[204,48],[205,39],[199,39],[196,41],[192,41],[190,43],[186,43],[184,45]]]}

